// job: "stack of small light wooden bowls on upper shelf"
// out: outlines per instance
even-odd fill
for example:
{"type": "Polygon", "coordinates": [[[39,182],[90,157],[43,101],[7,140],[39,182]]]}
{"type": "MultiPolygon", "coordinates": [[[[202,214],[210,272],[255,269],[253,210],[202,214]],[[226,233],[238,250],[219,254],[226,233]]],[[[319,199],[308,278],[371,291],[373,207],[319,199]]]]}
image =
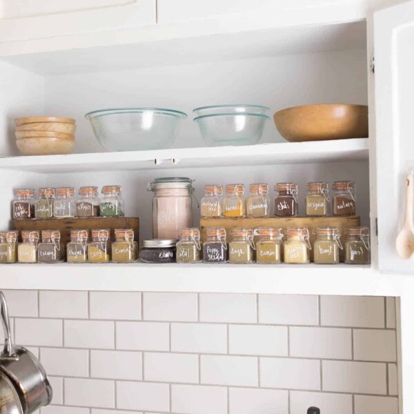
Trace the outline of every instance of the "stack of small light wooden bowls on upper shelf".
{"type": "Polygon", "coordinates": [[[23,155],[68,154],[75,146],[75,119],[24,117],[14,119],[16,144],[23,155]]]}

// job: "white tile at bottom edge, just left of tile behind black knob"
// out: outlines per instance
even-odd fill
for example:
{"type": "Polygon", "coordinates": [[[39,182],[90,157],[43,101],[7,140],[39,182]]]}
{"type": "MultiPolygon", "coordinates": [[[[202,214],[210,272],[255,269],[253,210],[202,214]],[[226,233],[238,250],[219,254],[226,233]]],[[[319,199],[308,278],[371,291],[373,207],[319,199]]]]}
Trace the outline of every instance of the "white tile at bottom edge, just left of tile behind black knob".
{"type": "Polygon", "coordinates": [[[288,391],[230,388],[229,401],[230,414],[288,414],[288,391]]]}

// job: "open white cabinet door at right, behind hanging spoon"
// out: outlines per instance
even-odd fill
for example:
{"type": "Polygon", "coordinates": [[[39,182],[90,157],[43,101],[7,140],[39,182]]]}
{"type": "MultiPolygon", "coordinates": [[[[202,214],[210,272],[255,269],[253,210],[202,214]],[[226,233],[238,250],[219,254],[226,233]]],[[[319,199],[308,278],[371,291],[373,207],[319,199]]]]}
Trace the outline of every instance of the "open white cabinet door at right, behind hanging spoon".
{"type": "Polygon", "coordinates": [[[376,12],[373,22],[378,265],[414,274],[414,257],[400,259],[395,249],[414,168],[414,1],[376,12]]]}

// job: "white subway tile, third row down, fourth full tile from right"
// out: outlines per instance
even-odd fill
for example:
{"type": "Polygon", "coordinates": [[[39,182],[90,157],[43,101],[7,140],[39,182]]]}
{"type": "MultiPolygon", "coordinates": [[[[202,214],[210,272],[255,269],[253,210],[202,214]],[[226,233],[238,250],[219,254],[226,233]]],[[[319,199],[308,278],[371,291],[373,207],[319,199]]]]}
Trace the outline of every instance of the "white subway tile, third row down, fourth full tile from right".
{"type": "Polygon", "coordinates": [[[198,355],[144,353],[144,380],[156,382],[199,382],[198,355]]]}

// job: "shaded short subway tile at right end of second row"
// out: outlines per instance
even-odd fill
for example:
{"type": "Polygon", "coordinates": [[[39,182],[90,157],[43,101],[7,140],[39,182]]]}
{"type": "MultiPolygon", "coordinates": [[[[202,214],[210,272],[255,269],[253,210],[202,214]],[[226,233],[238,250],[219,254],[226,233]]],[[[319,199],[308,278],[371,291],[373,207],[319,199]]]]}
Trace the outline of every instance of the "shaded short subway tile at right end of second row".
{"type": "Polygon", "coordinates": [[[395,331],[381,329],[354,329],[354,359],[362,361],[397,360],[395,331]]]}

